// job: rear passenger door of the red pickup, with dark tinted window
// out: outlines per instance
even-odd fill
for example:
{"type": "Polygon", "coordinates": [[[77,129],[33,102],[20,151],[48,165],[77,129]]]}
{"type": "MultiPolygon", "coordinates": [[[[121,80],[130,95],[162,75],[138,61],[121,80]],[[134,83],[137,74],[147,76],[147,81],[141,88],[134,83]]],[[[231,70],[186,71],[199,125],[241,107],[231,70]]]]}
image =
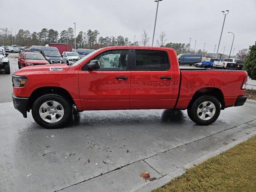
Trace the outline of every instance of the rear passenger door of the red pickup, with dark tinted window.
{"type": "Polygon", "coordinates": [[[133,58],[130,106],[170,106],[175,77],[167,52],[134,50],[133,58]]]}

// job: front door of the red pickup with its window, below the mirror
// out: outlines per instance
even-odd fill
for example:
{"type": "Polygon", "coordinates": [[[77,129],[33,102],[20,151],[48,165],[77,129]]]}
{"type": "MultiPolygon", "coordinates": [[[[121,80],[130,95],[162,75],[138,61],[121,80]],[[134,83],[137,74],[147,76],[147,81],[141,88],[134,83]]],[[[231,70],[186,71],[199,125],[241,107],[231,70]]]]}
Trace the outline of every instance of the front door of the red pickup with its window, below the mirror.
{"type": "MultiPolygon", "coordinates": [[[[109,50],[92,60],[100,68],[79,72],[79,93],[83,108],[111,109],[130,106],[131,54],[130,50],[109,50]],[[110,64],[115,58],[114,64],[110,64]]],[[[90,61],[89,61],[90,62],[90,61]]]]}

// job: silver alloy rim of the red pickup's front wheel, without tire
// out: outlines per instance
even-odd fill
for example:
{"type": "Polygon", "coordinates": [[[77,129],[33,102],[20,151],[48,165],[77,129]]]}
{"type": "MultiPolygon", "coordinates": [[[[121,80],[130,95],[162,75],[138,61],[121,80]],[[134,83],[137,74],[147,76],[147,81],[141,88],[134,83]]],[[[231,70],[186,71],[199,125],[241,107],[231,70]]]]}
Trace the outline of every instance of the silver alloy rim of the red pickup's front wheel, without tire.
{"type": "Polygon", "coordinates": [[[48,123],[56,123],[64,116],[64,108],[59,102],[46,101],[40,106],[39,115],[48,123]]]}

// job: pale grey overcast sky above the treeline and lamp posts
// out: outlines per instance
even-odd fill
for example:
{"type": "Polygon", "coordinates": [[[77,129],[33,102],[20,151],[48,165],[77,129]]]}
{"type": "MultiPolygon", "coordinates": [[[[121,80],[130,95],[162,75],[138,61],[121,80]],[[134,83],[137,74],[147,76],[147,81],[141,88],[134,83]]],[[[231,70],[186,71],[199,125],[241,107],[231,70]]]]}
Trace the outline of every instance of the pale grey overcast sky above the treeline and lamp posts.
{"type": "MultiPolygon", "coordinates": [[[[0,0],[2,20],[0,27],[39,32],[42,28],[54,30],[74,27],[76,33],[98,30],[100,36],[128,37],[140,40],[146,29],[152,40],[156,14],[154,0],[0,0]]],[[[196,49],[213,52],[218,45],[224,15],[226,16],[220,51],[226,46],[228,54],[235,34],[237,50],[248,48],[256,41],[256,0],[162,0],[159,3],[156,38],[160,31],[167,34],[167,42],[188,43],[196,49]]],[[[151,44],[151,43],[150,43],[151,44]]]]}

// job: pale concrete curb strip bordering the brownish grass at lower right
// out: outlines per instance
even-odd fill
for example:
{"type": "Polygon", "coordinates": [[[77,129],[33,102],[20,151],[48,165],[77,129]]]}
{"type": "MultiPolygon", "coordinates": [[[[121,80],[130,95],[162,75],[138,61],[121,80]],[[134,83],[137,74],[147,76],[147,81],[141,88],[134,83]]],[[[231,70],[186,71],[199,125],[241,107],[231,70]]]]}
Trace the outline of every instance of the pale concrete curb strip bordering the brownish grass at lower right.
{"type": "MultiPolygon", "coordinates": [[[[253,101],[253,102],[256,102],[256,101],[253,101]]],[[[170,180],[172,180],[172,179],[174,179],[174,178],[184,174],[187,169],[189,169],[189,168],[191,168],[191,167],[193,167],[195,165],[198,165],[198,164],[204,162],[205,160],[208,160],[211,157],[217,156],[218,154],[220,154],[220,153],[222,153],[222,152],[224,152],[224,151],[226,151],[226,150],[236,146],[237,144],[240,144],[240,143],[248,140],[249,138],[251,138],[254,135],[256,135],[256,131],[254,131],[254,132],[252,132],[252,133],[242,137],[241,139],[236,140],[236,141],[234,141],[234,142],[232,142],[232,143],[230,143],[230,144],[228,144],[226,146],[223,146],[223,147],[221,147],[221,148],[219,148],[219,149],[217,149],[217,150],[215,150],[213,152],[210,152],[210,153],[208,153],[208,154],[206,154],[206,155],[204,155],[204,156],[202,156],[202,157],[200,157],[200,158],[198,158],[198,159],[196,159],[196,160],[194,160],[194,161],[184,165],[181,168],[178,168],[178,169],[176,169],[176,170],[174,170],[172,172],[169,172],[168,174],[166,174],[166,175],[164,175],[164,176],[158,178],[157,180],[154,180],[154,181],[152,181],[152,182],[150,182],[148,184],[145,184],[144,186],[134,190],[133,192],[150,192],[151,190],[154,190],[154,189],[156,189],[158,187],[161,187],[164,184],[170,182],[170,180]]]]}

